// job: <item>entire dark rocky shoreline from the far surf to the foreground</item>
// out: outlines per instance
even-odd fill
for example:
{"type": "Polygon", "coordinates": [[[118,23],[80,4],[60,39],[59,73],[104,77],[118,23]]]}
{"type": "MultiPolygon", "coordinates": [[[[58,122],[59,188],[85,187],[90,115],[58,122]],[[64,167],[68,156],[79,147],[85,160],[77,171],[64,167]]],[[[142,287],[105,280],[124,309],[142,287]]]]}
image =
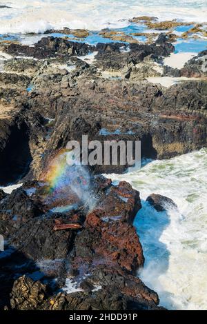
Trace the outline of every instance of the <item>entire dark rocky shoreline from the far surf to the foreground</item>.
{"type": "MultiPolygon", "coordinates": [[[[128,165],[75,169],[70,185],[59,187],[47,176],[68,141],[82,134],[140,140],[144,159],[206,147],[207,52],[170,68],[164,58],[175,48],[163,33],[150,44],[43,37],[34,46],[1,43],[0,50],[0,185],[23,183],[11,194],[0,190],[7,244],[0,308],[162,310],[157,293],[137,277],[144,266],[133,227],[139,192],[100,175],[128,165]],[[170,88],[147,81],[164,76],[197,79],[170,88]]],[[[176,207],[163,196],[147,200],[157,210],[176,207]]]]}

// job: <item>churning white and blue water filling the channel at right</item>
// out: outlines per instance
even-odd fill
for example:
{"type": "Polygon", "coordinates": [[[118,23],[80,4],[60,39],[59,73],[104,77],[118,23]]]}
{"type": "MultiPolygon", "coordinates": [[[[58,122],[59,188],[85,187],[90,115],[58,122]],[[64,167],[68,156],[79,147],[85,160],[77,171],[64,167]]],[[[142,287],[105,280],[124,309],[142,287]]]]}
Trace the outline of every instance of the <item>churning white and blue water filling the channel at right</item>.
{"type": "Polygon", "coordinates": [[[207,149],[108,177],[128,181],[141,193],[143,207],[134,225],[146,263],[138,275],[159,293],[160,305],[170,310],[205,310],[207,149]],[[146,202],[152,193],[170,197],[178,210],[157,212],[146,202]]]}

